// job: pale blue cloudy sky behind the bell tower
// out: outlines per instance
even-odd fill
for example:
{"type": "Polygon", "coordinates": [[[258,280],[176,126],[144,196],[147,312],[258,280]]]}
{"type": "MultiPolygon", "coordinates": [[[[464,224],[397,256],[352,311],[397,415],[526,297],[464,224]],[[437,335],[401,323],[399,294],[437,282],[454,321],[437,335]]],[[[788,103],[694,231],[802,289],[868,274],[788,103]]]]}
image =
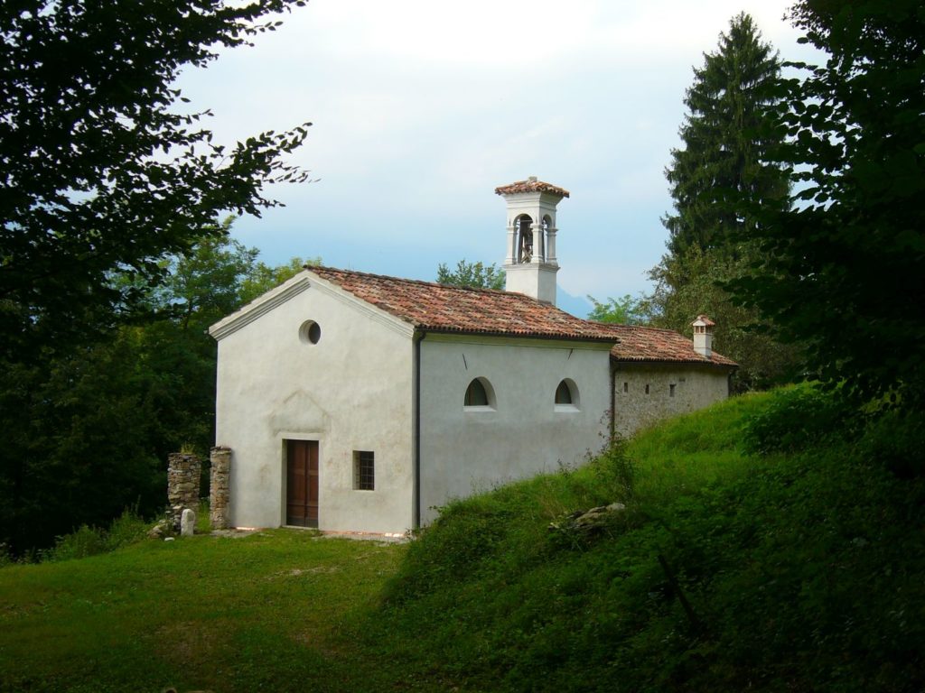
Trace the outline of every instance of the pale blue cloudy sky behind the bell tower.
{"type": "Polygon", "coordinates": [[[282,264],[433,280],[440,262],[501,265],[494,189],[566,188],[559,305],[648,292],[672,209],[664,177],[703,54],[746,11],[783,59],[805,59],[790,0],[311,0],[253,47],[178,86],[233,144],[311,122],[289,157],[313,182],[233,235],[282,264]]]}

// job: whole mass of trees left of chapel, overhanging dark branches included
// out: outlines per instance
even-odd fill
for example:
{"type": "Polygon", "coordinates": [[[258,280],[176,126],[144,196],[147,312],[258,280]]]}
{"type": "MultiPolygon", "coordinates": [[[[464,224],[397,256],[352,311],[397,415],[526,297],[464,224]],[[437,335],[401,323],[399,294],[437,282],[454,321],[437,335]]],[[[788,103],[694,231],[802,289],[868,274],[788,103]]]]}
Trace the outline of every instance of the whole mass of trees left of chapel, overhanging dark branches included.
{"type": "Polygon", "coordinates": [[[203,127],[174,86],[303,0],[0,6],[0,541],[17,555],[159,505],[166,453],[211,443],[215,345],[254,251],[223,213],[307,135],[203,127]],[[157,503],[154,499],[157,498],[157,503]]]}

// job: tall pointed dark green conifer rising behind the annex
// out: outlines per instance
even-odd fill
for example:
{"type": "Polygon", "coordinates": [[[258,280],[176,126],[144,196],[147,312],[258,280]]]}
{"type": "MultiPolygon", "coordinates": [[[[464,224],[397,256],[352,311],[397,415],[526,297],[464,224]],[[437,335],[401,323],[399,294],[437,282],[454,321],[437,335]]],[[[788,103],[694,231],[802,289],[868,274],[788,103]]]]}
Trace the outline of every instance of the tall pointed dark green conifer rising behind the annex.
{"type": "Polygon", "coordinates": [[[754,225],[749,205],[789,205],[788,178],[767,156],[776,141],[768,106],[778,98],[780,74],[777,53],[746,14],[730,21],[719,49],[694,68],[680,130],[684,147],[672,149],[665,171],[674,213],[662,223],[673,258],[694,246],[728,247],[734,230],[754,225]]]}

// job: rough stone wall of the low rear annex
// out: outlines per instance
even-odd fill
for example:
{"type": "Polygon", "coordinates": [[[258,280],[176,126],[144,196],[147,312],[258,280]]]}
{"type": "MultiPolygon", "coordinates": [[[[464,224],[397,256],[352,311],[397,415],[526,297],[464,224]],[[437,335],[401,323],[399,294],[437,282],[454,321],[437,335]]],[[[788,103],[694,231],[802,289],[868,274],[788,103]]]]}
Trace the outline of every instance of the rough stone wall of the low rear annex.
{"type": "Polygon", "coordinates": [[[725,369],[622,362],[614,376],[614,432],[628,438],[661,419],[709,407],[727,396],[725,369]]]}

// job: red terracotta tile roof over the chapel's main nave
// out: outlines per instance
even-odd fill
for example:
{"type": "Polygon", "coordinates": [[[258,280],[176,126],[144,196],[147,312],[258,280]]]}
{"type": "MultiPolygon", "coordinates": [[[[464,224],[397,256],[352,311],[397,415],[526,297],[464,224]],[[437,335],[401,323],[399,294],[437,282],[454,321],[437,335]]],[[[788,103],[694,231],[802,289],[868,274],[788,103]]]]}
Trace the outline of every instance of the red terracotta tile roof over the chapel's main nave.
{"type": "Polygon", "coordinates": [[[309,267],[310,273],[415,327],[435,332],[614,342],[611,326],[588,322],[522,294],[444,286],[379,274],[309,267]]]}

